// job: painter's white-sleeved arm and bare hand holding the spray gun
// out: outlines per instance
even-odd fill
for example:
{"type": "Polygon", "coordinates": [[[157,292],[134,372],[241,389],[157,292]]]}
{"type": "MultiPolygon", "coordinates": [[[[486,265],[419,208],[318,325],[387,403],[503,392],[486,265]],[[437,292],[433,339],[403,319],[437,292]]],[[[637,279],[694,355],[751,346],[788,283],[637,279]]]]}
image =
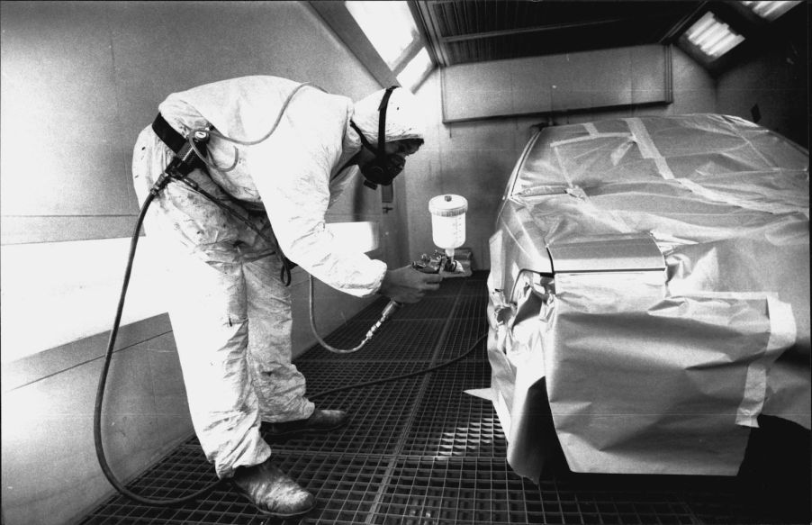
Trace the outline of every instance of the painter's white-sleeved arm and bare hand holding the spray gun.
{"type": "Polygon", "coordinates": [[[294,101],[266,142],[251,150],[249,170],[265,204],[284,255],[305,271],[341,292],[365,296],[376,292],[404,303],[420,300],[438,285],[409,267],[387,271],[336,240],[327,230],[329,176],[342,152],[346,113],[340,108],[294,101]]]}

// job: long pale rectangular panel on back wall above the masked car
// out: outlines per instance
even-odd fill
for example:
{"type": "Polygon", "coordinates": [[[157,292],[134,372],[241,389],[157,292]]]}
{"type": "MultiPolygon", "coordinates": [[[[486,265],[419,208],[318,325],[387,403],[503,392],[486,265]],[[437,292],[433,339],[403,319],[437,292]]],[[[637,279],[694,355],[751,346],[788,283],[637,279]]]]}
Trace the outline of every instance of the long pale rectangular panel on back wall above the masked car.
{"type": "Polygon", "coordinates": [[[667,47],[636,46],[443,70],[443,121],[671,102],[667,47]]]}

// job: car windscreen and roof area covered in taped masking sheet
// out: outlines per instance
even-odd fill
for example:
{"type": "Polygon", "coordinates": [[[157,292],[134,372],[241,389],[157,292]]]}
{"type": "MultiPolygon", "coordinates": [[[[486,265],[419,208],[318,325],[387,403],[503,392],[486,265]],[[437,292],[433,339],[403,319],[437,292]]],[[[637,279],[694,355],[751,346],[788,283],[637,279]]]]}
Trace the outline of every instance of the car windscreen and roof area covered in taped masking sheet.
{"type": "Polygon", "coordinates": [[[714,114],[640,117],[540,131],[513,194],[663,179],[805,170],[807,151],[752,122],[714,114]]]}

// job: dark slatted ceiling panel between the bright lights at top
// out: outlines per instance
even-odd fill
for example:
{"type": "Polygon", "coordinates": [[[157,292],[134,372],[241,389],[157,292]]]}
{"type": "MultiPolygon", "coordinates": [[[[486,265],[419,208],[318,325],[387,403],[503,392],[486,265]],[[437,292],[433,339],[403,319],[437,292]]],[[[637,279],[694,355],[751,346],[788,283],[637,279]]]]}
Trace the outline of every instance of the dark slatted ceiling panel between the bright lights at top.
{"type": "Polygon", "coordinates": [[[440,66],[666,42],[703,4],[411,1],[440,66]]]}

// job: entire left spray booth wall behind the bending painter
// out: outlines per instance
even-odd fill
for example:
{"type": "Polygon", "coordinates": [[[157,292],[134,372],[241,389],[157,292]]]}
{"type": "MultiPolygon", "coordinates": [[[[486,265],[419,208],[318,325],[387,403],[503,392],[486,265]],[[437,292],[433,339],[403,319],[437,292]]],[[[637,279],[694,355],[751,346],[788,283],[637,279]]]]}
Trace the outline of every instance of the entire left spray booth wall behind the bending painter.
{"type": "MultiPolygon", "coordinates": [[[[132,146],[158,104],[192,86],[256,74],[354,100],[381,86],[306,3],[0,8],[2,243],[11,261],[2,285],[3,517],[7,525],[67,523],[112,493],[93,447],[95,387],[138,213],[132,146]],[[12,330],[16,321],[29,325],[12,330]]],[[[395,196],[396,210],[384,216],[379,193],[352,186],[328,221],[378,222],[382,248],[371,255],[402,266],[402,179],[395,196]]],[[[137,272],[147,264],[138,257],[145,241],[137,272]]],[[[149,278],[131,287],[125,310],[141,307],[143,315],[122,327],[105,399],[105,443],[125,479],[192,432],[171,324],[149,278]]],[[[314,339],[298,269],[292,293],[301,353],[314,339]]],[[[316,297],[324,334],[369,303],[325,285],[316,297]]]]}

